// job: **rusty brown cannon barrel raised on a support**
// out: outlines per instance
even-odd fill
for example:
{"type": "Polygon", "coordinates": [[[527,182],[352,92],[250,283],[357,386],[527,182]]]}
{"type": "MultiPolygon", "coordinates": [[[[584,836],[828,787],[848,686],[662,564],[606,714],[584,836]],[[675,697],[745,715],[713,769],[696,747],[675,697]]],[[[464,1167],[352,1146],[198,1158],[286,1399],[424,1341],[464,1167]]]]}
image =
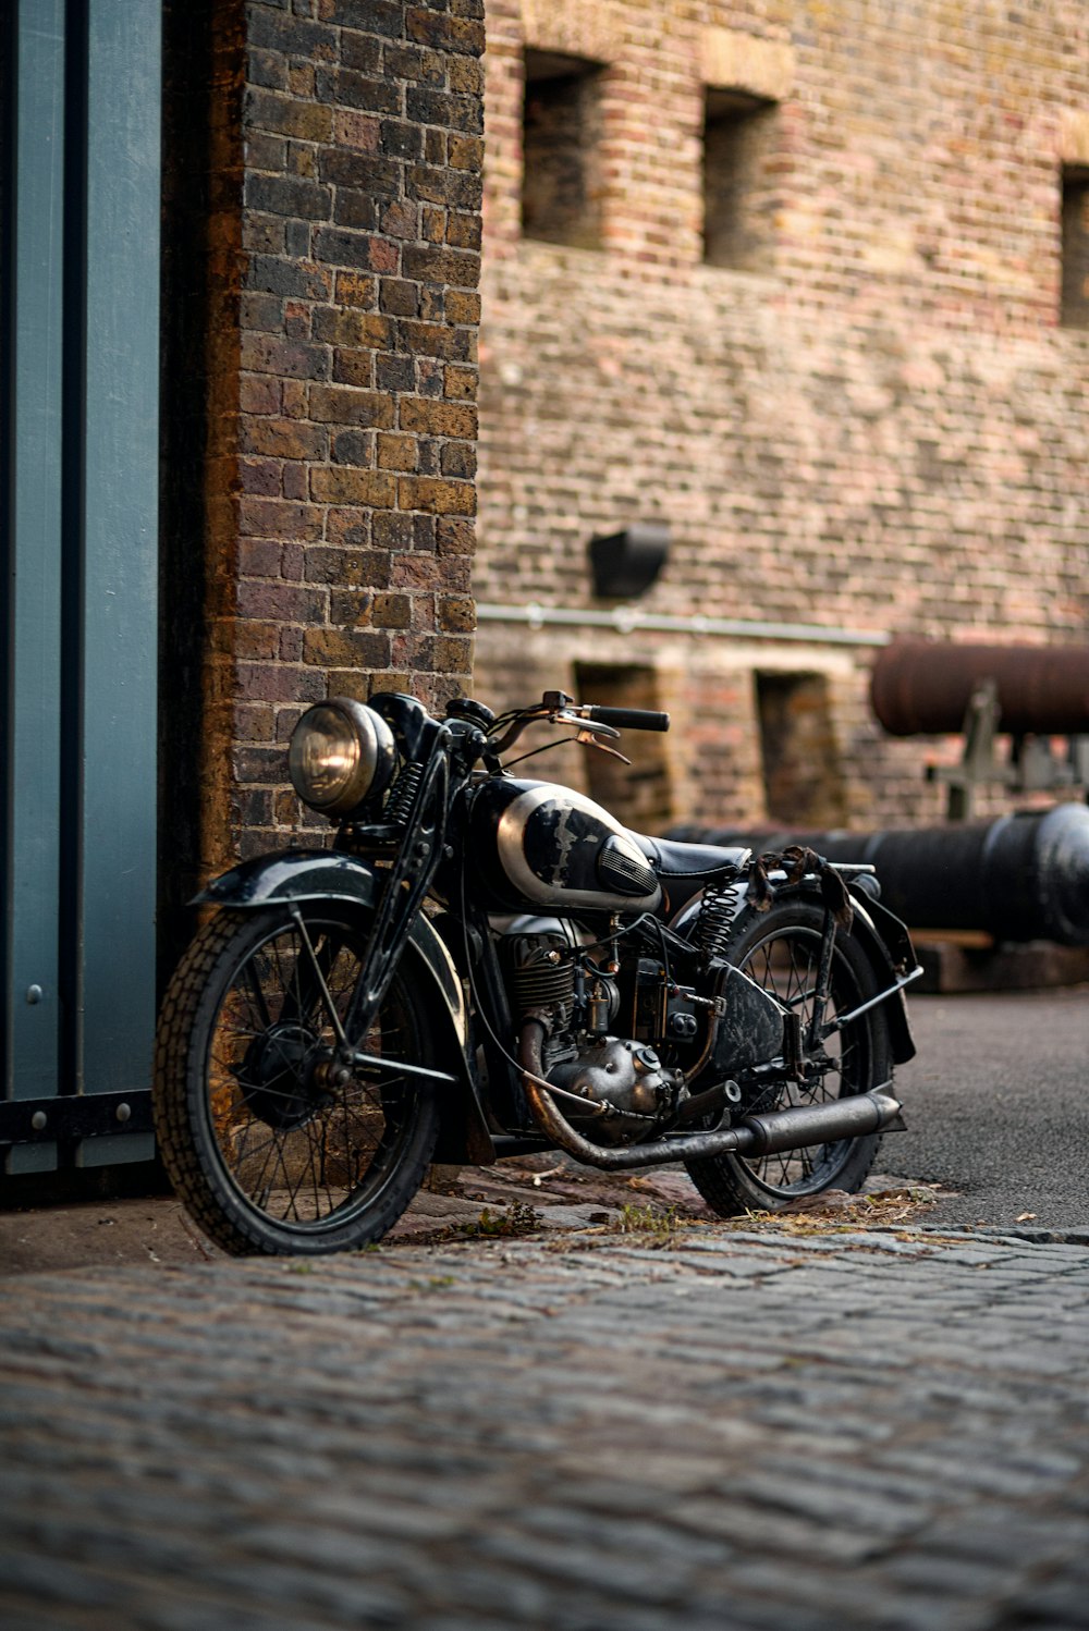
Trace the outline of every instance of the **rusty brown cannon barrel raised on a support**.
{"type": "Polygon", "coordinates": [[[983,680],[998,687],[999,731],[1089,732],[1089,648],[1082,646],[898,639],[874,664],[871,703],[892,736],[944,736],[963,727],[972,693],[983,680]]]}

